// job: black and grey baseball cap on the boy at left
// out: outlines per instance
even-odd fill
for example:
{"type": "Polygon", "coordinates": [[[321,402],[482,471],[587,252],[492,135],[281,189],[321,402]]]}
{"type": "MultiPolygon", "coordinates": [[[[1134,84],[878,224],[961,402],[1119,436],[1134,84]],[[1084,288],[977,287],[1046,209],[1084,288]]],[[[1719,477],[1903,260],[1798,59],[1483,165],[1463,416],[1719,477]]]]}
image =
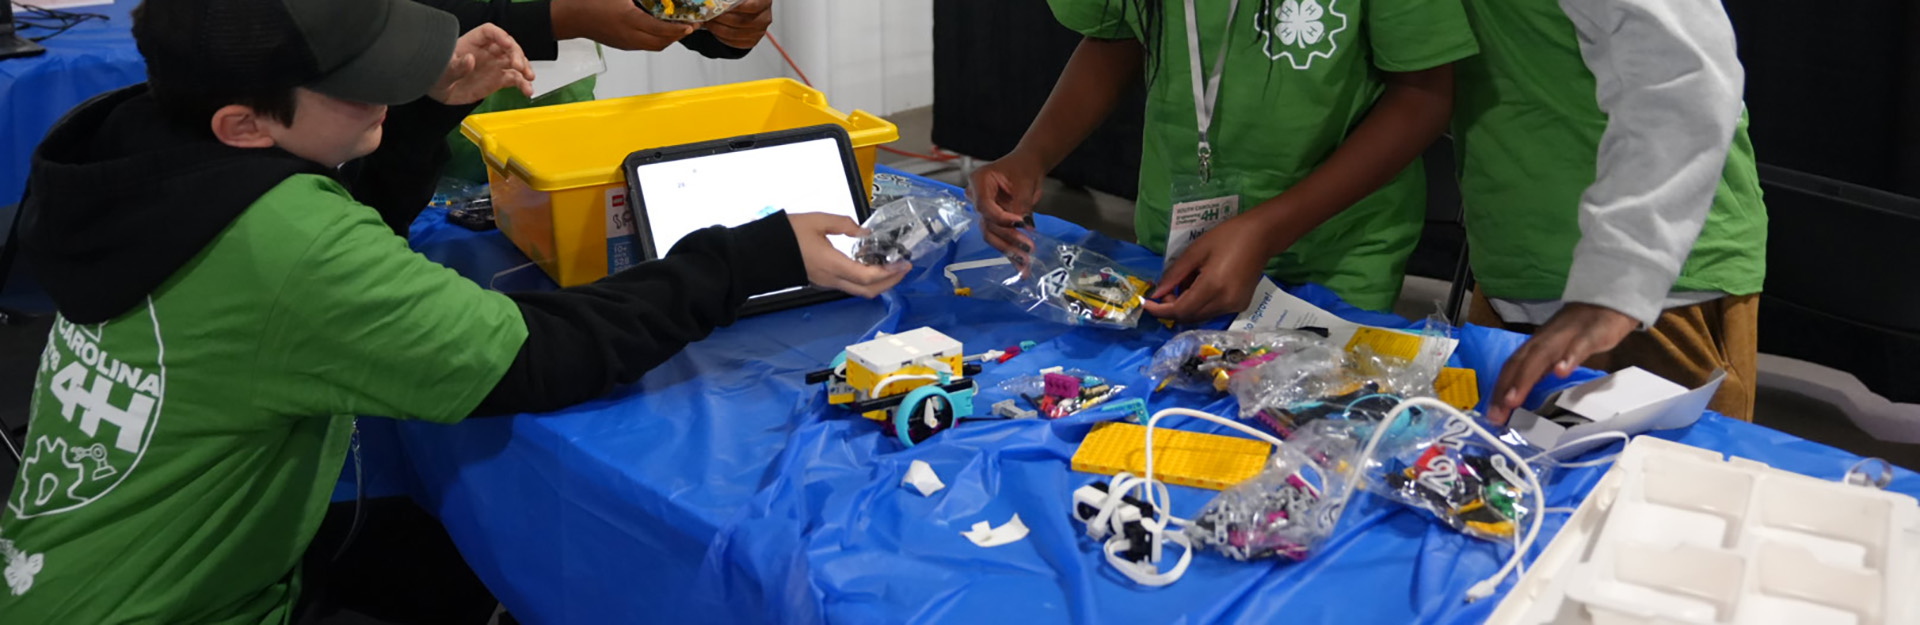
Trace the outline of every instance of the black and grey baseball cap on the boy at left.
{"type": "Polygon", "coordinates": [[[459,23],[411,0],[146,0],[132,36],[156,82],[407,104],[440,81],[459,23]]]}

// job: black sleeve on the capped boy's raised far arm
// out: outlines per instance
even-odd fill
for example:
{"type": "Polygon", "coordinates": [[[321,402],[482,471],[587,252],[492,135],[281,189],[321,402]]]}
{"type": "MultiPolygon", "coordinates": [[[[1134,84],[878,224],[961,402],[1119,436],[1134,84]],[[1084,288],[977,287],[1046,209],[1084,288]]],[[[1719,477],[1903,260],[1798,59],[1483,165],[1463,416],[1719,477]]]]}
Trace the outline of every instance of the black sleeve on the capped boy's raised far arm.
{"type": "Polygon", "coordinates": [[[432,98],[386,109],[380,148],[340,169],[340,180],[353,199],[380,211],[394,232],[407,236],[413,219],[434,199],[440,171],[453,157],[447,134],[461,127],[478,104],[445,105],[432,98]]]}

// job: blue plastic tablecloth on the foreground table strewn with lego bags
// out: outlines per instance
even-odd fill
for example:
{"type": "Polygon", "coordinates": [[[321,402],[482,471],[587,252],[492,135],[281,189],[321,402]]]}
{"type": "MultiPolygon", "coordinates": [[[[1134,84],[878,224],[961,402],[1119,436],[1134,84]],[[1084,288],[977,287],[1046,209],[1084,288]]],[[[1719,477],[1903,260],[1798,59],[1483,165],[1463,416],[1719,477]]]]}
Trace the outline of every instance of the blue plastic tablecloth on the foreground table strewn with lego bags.
{"type": "MultiPolygon", "coordinates": [[[[1085,236],[1052,219],[1041,228],[1085,236]]],[[[482,282],[524,263],[499,234],[465,232],[438,215],[415,224],[415,245],[482,282]]],[[[1139,268],[1160,265],[1135,245],[1091,245],[1139,268]]],[[[941,261],[989,253],[973,234],[941,261]]],[[[543,280],[528,272],[501,280],[543,280]]],[[[1359,322],[1407,324],[1319,288],[1296,295],[1359,322]]],[[[973,353],[1039,341],[989,364],[977,406],[1006,397],[995,389],[1000,380],[1054,364],[1144,389],[1140,366],[1171,337],[1158,324],[1068,328],[954,297],[937,268],[922,266],[883,299],[745,318],[601,401],[543,416],[401,424],[415,497],[528,623],[1476,623],[1498,604],[1461,598],[1507,546],[1373,497],[1357,498],[1308,562],[1198,554],[1179,583],[1137,587],[1068,518],[1069,491],[1094,479],[1068,468],[1089,424],[972,422],[902,449],[877,424],[826,406],[803,380],[876,330],[918,326],[973,353]],[[931,464],[947,489],[900,489],[910,460],[931,464]],[[1020,543],[979,548],[960,537],[975,521],[998,525],[1014,514],[1031,527],[1020,543]]],[[[1488,395],[1492,372],[1523,337],[1469,326],[1461,339],[1457,364],[1480,370],[1488,395]]],[[[1152,401],[1175,405],[1233,408],[1183,393],[1152,401]]],[[[1217,431],[1181,422],[1173,426],[1217,431]]],[[[1820,477],[1837,479],[1855,460],[1718,414],[1661,435],[1820,477]]],[[[1578,504],[1599,474],[1557,472],[1549,506],[1578,504]]],[[[1901,470],[1893,489],[1920,495],[1920,477],[1901,470]]],[[[1173,487],[1173,512],[1192,516],[1212,491],[1173,487]]],[[[1557,525],[1548,521],[1542,546],[1557,525]]]]}

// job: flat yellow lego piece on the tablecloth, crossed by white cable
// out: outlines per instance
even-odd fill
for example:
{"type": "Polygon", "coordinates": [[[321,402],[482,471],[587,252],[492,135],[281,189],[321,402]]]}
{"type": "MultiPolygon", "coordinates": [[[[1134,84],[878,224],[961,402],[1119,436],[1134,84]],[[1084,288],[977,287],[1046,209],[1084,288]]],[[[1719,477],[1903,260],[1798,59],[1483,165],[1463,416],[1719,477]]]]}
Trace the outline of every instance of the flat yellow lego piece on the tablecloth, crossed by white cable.
{"type": "MultiPolygon", "coordinates": [[[[1225,491],[1267,466],[1273,445],[1217,433],[1154,428],[1154,479],[1196,489],[1225,491]]],[[[1092,426],[1073,470],[1114,475],[1146,475],[1146,428],[1108,422],[1092,426]]]]}

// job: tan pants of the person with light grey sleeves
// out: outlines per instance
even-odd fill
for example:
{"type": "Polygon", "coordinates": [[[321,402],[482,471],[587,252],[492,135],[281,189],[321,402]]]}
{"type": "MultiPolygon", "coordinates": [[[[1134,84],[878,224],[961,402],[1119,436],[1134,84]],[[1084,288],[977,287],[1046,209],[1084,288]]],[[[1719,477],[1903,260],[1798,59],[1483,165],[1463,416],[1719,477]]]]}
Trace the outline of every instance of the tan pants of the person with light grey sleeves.
{"type": "MultiPolygon", "coordinates": [[[[1467,322],[1534,332],[1530,324],[1503,322],[1478,288],[1473,289],[1467,322]]],[[[1724,368],[1726,382],[1707,408],[1751,422],[1759,334],[1761,295],[1720,297],[1661,312],[1653,328],[1628,334],[1613,351],[1588,359],[1586,366],[1603,372],[1638,366],[1686,387],[1697,387],[1713,378],[1713,370],[1724,368]]]]}

